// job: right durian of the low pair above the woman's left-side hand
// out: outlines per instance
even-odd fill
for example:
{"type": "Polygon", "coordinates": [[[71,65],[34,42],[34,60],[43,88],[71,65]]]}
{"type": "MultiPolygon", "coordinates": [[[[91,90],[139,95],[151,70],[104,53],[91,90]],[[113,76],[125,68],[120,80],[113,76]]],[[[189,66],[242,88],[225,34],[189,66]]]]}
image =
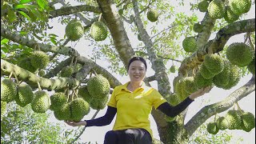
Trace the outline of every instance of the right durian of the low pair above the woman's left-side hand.
{"type": "Polygon", "coordinates": [[[75,98],[70,102],[71,119],[79,122],[86,114],[90,112],[90,105],[82,98],[75,98]]]}

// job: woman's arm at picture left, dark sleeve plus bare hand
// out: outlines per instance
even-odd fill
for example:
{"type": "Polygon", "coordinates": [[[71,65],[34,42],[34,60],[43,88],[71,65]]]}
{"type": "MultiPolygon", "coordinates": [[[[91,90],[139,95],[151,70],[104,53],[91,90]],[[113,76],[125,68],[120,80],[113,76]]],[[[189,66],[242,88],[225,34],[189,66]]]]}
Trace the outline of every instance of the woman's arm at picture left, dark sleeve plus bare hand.
{"type": "Polygon", "coordinates": [[[117,113],[117,109],[111,106],[107,107],[106,114],[100,118],[85,120],[80,122],[65,121],[70,126],[106,126],[109,125],[114,115],[117,113]]]}

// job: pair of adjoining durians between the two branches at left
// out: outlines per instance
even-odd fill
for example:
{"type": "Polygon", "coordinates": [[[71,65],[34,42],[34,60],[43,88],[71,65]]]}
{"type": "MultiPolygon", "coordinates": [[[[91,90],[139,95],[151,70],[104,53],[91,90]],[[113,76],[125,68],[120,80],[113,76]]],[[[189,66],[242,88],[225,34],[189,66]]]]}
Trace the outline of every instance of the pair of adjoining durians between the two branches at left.
{"type": "Polygon", "coordinates": [[[31,73],[35,73],[38,70],[46,68],[49,62],[50,58],[45,52],[34,50],[30,57],[22,58],[21,61],[18,62],[18,66],[31,73]]]}

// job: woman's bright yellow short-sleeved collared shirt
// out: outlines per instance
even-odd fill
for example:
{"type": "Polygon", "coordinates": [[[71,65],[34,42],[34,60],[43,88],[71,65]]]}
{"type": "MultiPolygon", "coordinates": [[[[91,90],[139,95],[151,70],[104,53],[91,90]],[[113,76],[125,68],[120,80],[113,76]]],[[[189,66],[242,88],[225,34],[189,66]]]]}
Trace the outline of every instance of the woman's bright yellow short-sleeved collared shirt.
{"type": "Polygon", "coordinates": [[[117,108],[117,117],[113,130],[124,130],[129,128],[142,128],[147,130],[153,138],[150,129],[150,113],[152,106],[155,109],[166,99],[152,87],[146,86],[143,82],[142,87],[131,92],[127,89],[129,82],[117,86],[111,95],[108,106],[117,108]]]}

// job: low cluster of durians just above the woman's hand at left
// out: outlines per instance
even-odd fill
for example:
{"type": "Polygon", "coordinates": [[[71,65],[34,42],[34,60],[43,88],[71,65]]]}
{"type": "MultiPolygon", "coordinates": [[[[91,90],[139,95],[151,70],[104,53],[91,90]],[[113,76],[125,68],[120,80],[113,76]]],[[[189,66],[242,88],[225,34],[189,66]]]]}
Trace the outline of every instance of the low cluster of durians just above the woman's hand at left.
{"type": "Polygon", "coordinates": [[[90,112],[90,105],[83,98],[74,98],[69,102],[62,92],[51,95],[50,102],[50,110],[54,111],[54,117],[60,121],[79,122],[90,112]]]}

